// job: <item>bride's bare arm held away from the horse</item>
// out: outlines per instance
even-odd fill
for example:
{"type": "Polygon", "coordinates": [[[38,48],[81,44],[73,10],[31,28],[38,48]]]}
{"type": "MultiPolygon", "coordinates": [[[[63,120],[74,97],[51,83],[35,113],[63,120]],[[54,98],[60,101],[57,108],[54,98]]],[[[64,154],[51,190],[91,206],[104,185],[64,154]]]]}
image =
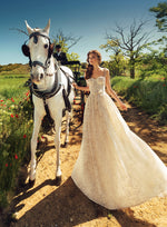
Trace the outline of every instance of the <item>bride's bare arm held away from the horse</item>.
{"type": "Polygon", "coordinates": [[[118,98],[116,92],[111,89],[109,70],[108,69],[105,69],[105,70],[106,70],[106,88],[107,88],[106,90],[107,90],[107,93],[109,96],[111,96],[111,98],[114,98],[124,110],[127,110],[126,105],[122,103],[122,101],[118,98]]]}

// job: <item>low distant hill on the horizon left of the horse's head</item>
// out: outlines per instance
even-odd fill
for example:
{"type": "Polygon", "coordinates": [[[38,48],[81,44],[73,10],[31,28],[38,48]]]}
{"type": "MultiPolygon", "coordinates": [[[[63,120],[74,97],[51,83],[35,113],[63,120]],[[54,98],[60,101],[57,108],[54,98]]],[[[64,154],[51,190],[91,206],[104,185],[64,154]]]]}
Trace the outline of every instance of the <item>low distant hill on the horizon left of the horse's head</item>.
{"type": "Polygon", "coordinates": [[[9,63],[0,65],[0,75],[28,75],[30,72],[30,67],[28,63],[9,63]]]}

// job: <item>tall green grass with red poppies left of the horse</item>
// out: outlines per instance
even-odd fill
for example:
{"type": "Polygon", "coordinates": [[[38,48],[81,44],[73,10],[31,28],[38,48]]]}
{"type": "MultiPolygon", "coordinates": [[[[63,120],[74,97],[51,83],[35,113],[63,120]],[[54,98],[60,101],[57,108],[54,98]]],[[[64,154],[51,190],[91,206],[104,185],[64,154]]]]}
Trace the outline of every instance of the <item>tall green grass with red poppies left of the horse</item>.
{"type": "Polygon", "coordinates": [[[23,88],[24,80],[17,80],[17,83],[13,80],[0,79],[0,85],[6,87],[0,87],[0,207],[10,201],[9,195],[17,186],[19,169],[30,155],[32,106],[29,90],[23,88]]]}

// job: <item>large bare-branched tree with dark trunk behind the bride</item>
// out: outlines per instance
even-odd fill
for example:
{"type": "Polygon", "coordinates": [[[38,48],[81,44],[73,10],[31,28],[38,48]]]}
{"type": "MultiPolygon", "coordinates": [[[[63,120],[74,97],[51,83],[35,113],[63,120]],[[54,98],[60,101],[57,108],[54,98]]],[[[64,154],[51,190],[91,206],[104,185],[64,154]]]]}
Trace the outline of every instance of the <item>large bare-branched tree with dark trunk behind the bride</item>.
{"type": "Polygon", "coordinates": [[[137,24],[134,20],[128,34],[126,34],[125,28],[116,24],[114,31],[117,36],[106,34],[107,42],[111,42],[111,49],[116,48],[118,51],[120,49],[129,58],[130,78],[135,78],[136,60],[148,41],[148,32],[143,32],[145,24],[145,21],[137,24]]]}

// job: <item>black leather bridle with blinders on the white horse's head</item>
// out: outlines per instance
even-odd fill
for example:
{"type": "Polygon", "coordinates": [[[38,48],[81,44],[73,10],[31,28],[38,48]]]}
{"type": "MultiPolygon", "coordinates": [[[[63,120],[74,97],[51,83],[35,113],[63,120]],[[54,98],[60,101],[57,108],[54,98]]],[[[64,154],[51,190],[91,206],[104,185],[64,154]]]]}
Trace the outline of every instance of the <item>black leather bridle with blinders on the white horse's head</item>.
{"type": "MultiPolygon", "coordinates": [[[[40,66],[40,67],[42,67],[43,70],[46,71],[46,70],[49,68],[49,66],[50,66],[50,58],[51,58],[51,55],[52,55],[52,52],[53,52],[53,43],[51,43],[50,38],[49,38],[48,36],[42,34],[42,33],[40,33],[40,32],[38,32],[38,31],[32,32],[32,33],[29,36],[29,39],[33,38],[33,42],[35,42],[35,43],[38,43],[38,37],[39,37],[39,36],[40,36],[40,37],[43,37],[43,38],[46,38],[46,39],[49,40],[48,57],[47,57],[47,60],[46,60],[45,63],[41,62],[41,61],[32,61],[32,60],[31,60],[30,49],[29,49],[29,47],[26,45],[28,40],[24,42],[24,45],[22,45],[21,49],[22,49],[23,55],[24,55],[26,57],[29,57],[29,65],[30,65],[31,68],[32,68],[32,67],[36,67],[36,66],[40,66]]],[[[47,73],[46,73],[46,75],[47,75],[47,73]]]]}

